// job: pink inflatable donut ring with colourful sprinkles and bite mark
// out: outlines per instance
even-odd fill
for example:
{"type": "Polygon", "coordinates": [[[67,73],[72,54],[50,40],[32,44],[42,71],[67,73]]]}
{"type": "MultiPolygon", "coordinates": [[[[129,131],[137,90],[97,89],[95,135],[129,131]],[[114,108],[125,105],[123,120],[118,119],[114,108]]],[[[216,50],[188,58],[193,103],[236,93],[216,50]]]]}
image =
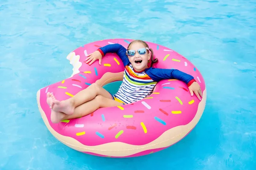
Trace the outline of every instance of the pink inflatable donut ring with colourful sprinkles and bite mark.
{"type": "MultiPolygon", "coordinates": [[[[157,83],[154,92],[146,98],[95,112],[77,119],[52,124],[47,105],[47,92],[56,99],[65,100],[96,82],[105,73],[124,71],[122,60],[108,53],[102,63],[85,63],[87,54],[99,47],[119,43],[125,48],[132,40],[110,39],[91,42],[68,54],[73,65],[71,77],[44,87],[37,92],[38,108],[45,125],[63,144],[79,152],[105,157],[143,156],[165,149],[183,139],[198,123],[206,104],[206,85],[198,69],[177,52],[147,42],[158,62],[155,68],[174,68],[192,75],[201,86],[203,97],[191,96],[187,85],[176,79],[157,83]]],[[[112,77],[115,81],[115,78],[112,77]]],[[[106,80],[111,82],[112,80],[106,80]]]]}

